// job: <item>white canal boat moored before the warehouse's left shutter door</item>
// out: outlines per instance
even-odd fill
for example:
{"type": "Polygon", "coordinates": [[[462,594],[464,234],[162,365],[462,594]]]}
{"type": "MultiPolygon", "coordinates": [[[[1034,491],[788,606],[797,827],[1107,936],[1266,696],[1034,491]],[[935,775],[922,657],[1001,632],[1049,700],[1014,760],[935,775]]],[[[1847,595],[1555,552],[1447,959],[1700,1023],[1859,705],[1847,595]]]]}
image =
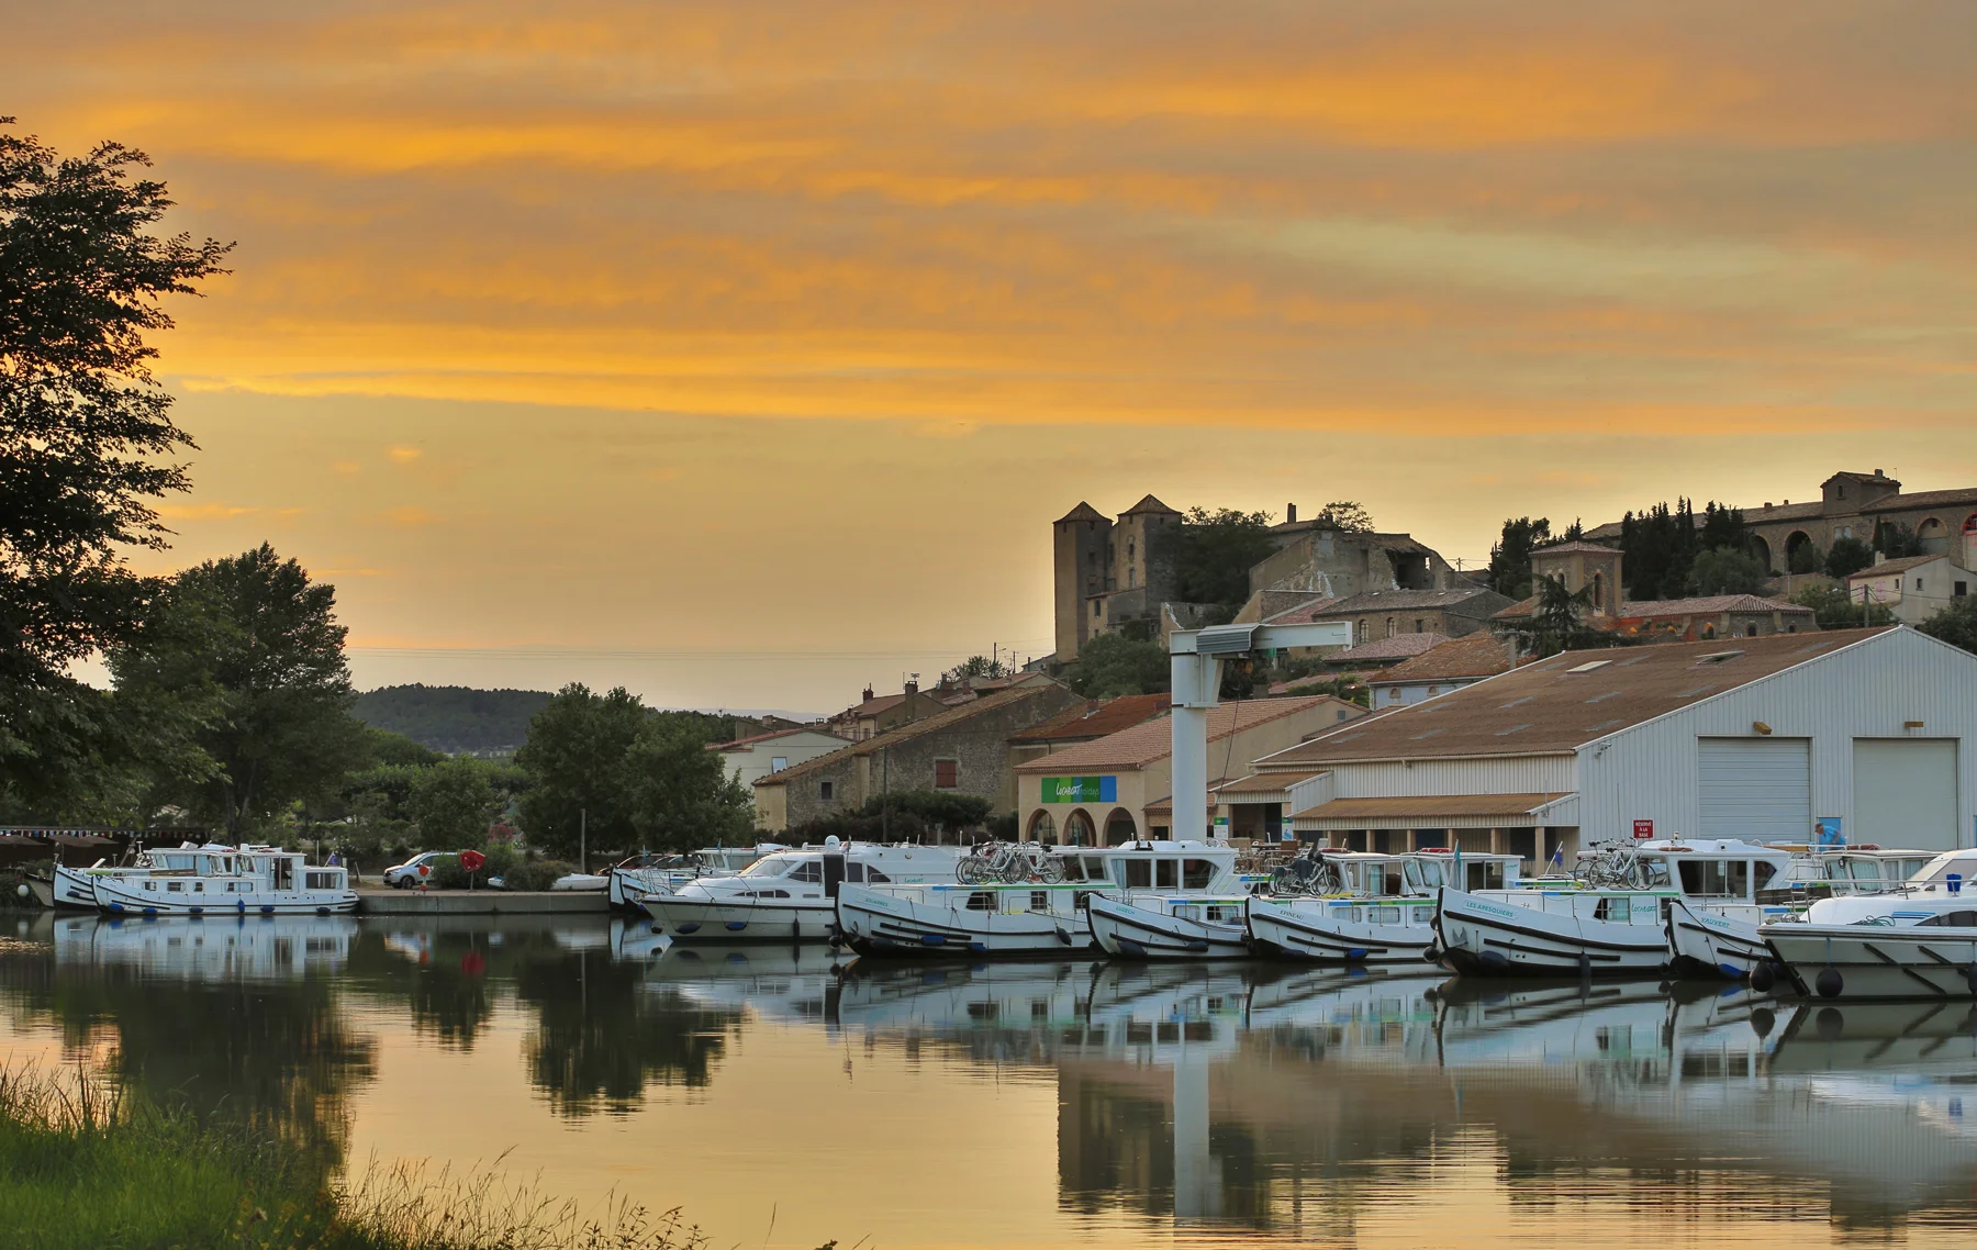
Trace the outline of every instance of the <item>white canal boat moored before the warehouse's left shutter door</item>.
{"type": "Polygon", "coordinates": [[[1754,938],[1763,920],[1791,914],[1787,904],[1758,902],[1773,882],[1789,880],[1787,850],[1734,839],[1671,839],[1599,852],[1588,884],[1443,888],[1435,930],[1443,957],[1467,975],[1647,977],[1675,959],[1675,900],[1686,900],[1690,914],[1728,922],[1712,930],[1728,959],[1734,938],[1754,938]],[[1625,884],[1599,884],[1611,880],[1625,884]]]}

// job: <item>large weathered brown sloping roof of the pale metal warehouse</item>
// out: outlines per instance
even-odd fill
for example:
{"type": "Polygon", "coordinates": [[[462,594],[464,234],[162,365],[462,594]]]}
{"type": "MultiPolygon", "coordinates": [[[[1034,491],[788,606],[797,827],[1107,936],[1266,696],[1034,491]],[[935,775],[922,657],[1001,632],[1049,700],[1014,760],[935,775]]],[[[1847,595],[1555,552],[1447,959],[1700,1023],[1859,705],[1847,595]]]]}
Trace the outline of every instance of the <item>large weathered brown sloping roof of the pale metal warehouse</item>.
{"type": "Polygon", "coordinates": [[[1888,631],[1773,633],[1568,651],[1427,702],[1338,726],[1323,738],[1257,759],[1257,769],[1340,759],[1570,752],[1882,633],[1888,631]]]}

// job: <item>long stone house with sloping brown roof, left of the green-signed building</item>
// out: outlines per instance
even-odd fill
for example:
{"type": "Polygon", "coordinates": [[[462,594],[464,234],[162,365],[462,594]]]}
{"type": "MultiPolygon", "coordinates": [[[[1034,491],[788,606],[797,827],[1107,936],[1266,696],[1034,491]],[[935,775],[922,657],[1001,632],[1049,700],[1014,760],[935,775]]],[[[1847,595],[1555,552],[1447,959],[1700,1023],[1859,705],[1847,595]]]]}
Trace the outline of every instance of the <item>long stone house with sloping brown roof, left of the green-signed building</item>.
{"type": "Polygon", "coordinates": [[[1058,682],[994,690],[939,706],[894,730],[793,763],[755,783],[755,827],[783,833],[805,821],[858,811],[886,791],[937,789],[1016,805],[1008,740],[1081,702],[1058,682]]]}

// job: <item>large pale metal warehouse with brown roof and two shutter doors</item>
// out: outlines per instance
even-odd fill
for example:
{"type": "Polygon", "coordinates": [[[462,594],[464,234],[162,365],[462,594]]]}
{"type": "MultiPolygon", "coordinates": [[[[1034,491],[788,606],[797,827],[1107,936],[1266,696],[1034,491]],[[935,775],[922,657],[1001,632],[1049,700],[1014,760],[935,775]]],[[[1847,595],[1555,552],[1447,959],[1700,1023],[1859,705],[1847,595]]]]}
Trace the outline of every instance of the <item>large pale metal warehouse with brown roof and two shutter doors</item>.
{"type": "Polygon", "coordinates": [[[1255,767],[1285,775],[1299,837],[1366,850],[1969,847],[1977,655],[1906,627],[1574,651],[1255,767]]]}

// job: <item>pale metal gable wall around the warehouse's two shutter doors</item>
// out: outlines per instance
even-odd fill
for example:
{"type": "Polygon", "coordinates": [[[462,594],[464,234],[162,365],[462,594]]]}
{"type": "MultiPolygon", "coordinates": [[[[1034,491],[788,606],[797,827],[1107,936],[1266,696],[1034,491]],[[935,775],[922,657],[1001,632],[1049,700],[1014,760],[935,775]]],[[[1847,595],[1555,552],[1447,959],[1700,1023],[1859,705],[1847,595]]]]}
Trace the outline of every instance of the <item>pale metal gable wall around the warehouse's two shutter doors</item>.
{"type": "MultiPolygon", "coordinates": [[[[1819,635],[1805,635],[1817,647],[1819,635]]],[[[1724,639],[1724,651],[1736,641],[1724,639]]],[[[1586,843],[1627,837],[1655,821],[1657,837],[1696,833],[1698,738],[1805,738],[1811,744],[1813,819],[1856,827],[1854,738],[1957,738],[1957,845],[1977,843],[1977,655],[1914,629],[1896,629],[1738,686],[1580,752],[1580,827],[1586,843]],[[1922,722],[1910,730],[1904,722],[1922,722]]],[[[1807,829],[1811,839],[1813,831],[1807,829]]]]}

